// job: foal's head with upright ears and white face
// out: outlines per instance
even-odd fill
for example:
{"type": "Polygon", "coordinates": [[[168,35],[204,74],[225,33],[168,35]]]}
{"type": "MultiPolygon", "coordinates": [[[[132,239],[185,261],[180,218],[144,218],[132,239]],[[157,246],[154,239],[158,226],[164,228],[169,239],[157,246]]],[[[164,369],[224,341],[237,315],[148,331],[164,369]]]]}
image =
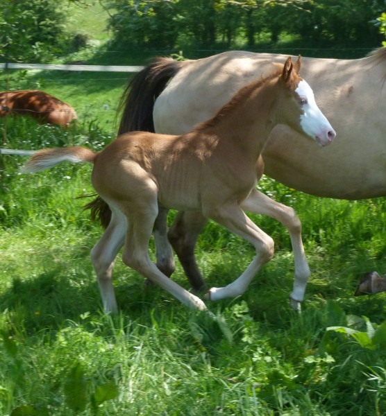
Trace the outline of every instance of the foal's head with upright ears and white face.
{"type": "Polygon", "coordinates": [[[319,110],[310,85],[299,76],[300,67],[300,55],[295,63],[290,57],[284,64],[279,82],[285,84],[287,91],[290,92],[287,97],[296,105],[284,105],[281,116],[283,121],[294,130],[308,135],[317,141],[319,146],[326,146],[333,141],[336,133],[326,116],[319,110]],[[294,117],[294,111],[299,112],[299,118],[294,117]]]}

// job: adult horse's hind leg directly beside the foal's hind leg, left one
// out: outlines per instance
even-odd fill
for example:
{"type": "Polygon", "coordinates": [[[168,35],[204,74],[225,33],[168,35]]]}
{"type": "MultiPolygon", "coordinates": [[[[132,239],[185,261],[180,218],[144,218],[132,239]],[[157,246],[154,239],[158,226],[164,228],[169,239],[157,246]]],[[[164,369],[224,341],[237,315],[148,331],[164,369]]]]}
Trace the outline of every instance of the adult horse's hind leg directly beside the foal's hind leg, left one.
{"type": "Polygon", "coordinates": [[[153,235],[156,244],[157,267],[164,275],[170,277],[176,270],[173,250],[167,239],[167,213],[169,209],[158,206],[158,216],[154,223],[153,235]]]}

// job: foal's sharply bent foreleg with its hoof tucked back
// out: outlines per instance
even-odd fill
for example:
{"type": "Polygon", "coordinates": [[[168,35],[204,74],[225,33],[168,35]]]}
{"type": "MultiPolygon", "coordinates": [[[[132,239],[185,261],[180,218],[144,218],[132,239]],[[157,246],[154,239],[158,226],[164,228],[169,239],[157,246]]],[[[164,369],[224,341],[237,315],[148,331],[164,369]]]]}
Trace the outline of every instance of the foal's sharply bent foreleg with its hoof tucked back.
{"type": "Polygon", "coordinates": [[[215,208],[205,208],[205,214],[235,234],[242,236],[256,250],[256,256],[240,277],[223,288],[210,288],[205,297],[219,300],[224,297],[242,295],[260,268],[273,257],[274,240],[244,214],[237,202],[228,202],[215,208]]]}

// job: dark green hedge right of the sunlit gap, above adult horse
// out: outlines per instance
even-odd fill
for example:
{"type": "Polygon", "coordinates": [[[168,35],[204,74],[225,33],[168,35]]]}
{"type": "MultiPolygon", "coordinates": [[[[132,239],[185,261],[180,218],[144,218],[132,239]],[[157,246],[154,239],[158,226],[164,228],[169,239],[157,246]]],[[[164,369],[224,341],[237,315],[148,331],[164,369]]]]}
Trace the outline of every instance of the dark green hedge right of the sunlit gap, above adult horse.
{"type": "Polygon", "coordinates": [[[107,3],[113,45],[171,48],[194,45],[249,47],[269,36],[276,44],[290,33],[319,46],[376,46],[382,0],[120,0],[107,3]],[[355,24],[353,23],[355,22],[355,24]]]}

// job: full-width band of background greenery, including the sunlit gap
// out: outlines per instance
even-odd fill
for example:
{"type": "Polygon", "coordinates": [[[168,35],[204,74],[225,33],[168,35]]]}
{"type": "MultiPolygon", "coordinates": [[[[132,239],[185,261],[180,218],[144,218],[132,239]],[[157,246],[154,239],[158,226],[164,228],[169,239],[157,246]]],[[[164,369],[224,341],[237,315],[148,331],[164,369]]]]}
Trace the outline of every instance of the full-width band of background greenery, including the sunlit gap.
{"type": "MultiPolygon", "coordinates": [[[[287,42],[308,46],[308,54],[317,53],[315,47],[371,48],[382,41],[383,7],[382,0],[4,0],[0,55],[8,61],[50,62],[106,53],[111,62],[110,51],[117,50],[283,47],[287,42]],[[97,25],[90,22],[94,15],[97,25]]],[[[121,55],[117,63],[124,63],[121,55]]]]}

